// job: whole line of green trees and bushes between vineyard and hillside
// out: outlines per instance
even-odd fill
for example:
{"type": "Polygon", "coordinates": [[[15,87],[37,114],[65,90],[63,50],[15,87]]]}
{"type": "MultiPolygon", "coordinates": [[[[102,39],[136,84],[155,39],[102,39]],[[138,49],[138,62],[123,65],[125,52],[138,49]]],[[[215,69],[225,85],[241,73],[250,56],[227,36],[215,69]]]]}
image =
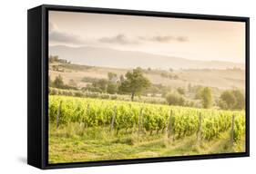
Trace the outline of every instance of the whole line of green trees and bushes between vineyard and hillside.
{"type": "MultiPolygon", "coordinates": [[[[87,87],[82,88],[82,90],[87,90],[90,92],[103,92],[109,94],[129,94],[130,100],[133,102],[135,96],[140,96],[143,92],[159,92],[161,86],[154,86],[147,77],[143,75],[141,68],[133,69],[132,71],[125,74],[125,76],[118,75],[116,73],[108,73],[107,79],[96,79],[89,78],[83,79],[84,82],[90,82],[87,87]]],[[[63,82],[63,78],[58,75],[54,81],[49,78],[49,86],[60,88],[60,89],[77,89],[76,82],[70,80],[68,84],[63,82]]],[[[162,89],[164,89],[162,87],[162,89]]],[[[192,91],[192,87],[189,86],[188,89],[192,91]]],[[[193,102],[189,102],[185,97],[185,89],[177,88],[175,92],[169,90],[165,91],[161,97],[166,99],[169,105],[179,105],[179,106],[190,106],[194,107],[193,102]]],[[[145,94],[145,93],[144,93],[145,94]]],[[[223,110],[243,110],[245,107],[244,94],[240,90],[227,90],[220,94],[220,98],[217,102],[214,101],[212,90],[210,87],[200,87],[197,89],[195,98],[200,100],[201,107],[210,109],[217,106],[223,110]]]]}

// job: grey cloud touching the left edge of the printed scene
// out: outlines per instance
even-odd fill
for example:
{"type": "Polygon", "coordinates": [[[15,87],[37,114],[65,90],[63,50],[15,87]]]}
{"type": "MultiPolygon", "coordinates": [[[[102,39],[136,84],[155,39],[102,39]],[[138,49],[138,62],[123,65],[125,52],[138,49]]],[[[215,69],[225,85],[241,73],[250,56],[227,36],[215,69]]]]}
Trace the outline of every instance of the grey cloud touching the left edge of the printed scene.
{"type": "Polygon", "coordinates": [[[83,43],[84,41],[75,34],[67,34],[60,31],[56,24],[49,24],[49,40],[59,43],[83,43]]]}

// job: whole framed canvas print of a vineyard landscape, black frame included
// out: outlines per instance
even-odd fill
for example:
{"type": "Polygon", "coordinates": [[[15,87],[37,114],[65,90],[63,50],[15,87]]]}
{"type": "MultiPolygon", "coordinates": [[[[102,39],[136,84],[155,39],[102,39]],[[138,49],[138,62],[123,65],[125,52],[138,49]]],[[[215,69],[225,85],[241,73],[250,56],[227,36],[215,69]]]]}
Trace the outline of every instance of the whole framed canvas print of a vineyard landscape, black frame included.
{"type": "Polygon", "coordinates": [[[249,156],[249,18],[28,10],[27,162],[249,156]]]}

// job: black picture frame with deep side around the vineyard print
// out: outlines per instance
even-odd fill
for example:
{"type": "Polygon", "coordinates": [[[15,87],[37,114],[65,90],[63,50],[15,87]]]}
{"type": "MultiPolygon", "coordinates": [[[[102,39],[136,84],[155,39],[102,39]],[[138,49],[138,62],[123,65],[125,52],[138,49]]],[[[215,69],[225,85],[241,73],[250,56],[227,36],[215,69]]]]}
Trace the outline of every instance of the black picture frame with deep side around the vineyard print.
{"type": "Polygon", "coordinates": [[[60,169],[102,165],[134,164],[178,160],[207,160],[250,156],[250,18],[208,14],[179,14],[64,5],[40,5],[27,11],[27,163],[39,169],[60,169]],[[136,160],[104,160],[48,164],[48,11],[87,12],[97,14],[127,14],[176,17],[246,24],[246,151],[136,160]]]}

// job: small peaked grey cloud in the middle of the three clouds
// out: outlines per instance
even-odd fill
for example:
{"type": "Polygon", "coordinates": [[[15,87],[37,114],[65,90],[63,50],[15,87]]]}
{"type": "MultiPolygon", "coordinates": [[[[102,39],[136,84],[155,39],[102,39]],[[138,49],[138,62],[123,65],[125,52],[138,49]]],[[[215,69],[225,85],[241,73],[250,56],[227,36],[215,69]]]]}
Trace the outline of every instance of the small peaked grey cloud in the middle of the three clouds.
{"type": "Polygon", "coordinates": [[[129,39],[125,34],[117,34],[111,37],[102,37],[98,39],[101,43],[119,43],[119,44],[138,44],[138,41],[129,39]]]}

